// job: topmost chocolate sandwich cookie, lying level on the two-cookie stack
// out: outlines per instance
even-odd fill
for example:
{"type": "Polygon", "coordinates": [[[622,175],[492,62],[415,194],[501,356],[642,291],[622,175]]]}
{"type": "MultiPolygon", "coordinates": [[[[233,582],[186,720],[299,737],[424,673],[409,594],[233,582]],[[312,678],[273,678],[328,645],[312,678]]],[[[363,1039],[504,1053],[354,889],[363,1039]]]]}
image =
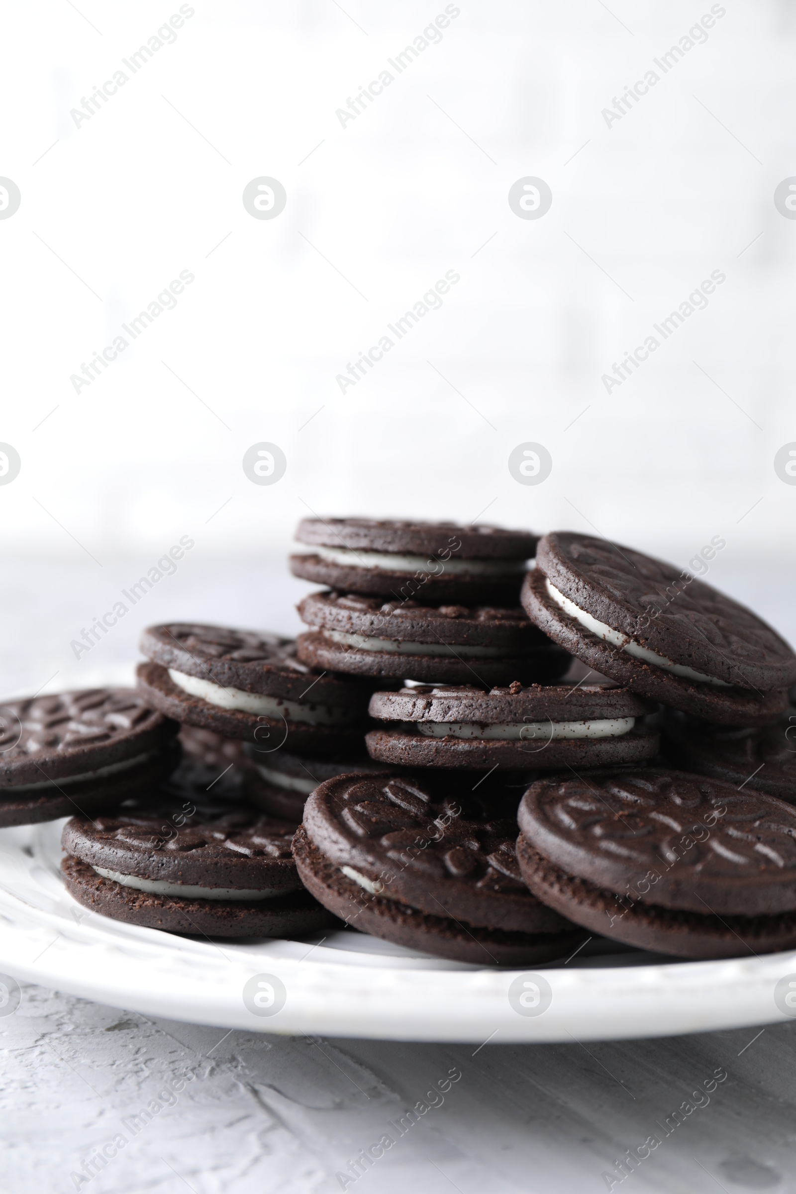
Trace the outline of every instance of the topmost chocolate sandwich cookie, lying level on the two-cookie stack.
{"type": "Polygon", "coordinates": [[[294,576],[337,592],[513,605],[538,536],[457,523],[304,518],[296,538],[313,552],[290,556],[294,576]]]}

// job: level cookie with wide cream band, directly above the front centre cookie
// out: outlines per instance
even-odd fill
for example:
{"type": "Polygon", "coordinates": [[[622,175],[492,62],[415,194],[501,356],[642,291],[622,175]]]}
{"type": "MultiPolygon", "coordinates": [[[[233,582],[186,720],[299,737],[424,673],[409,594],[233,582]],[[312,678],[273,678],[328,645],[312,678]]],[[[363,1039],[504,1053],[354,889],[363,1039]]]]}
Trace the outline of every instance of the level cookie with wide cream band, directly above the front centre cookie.
{"type": "Polygon", "coordinates": [[[658,732],[644,722],[652,712],[634,693],[599,684],[425,685],[374,693],[370,715],[400,725],[371,730],[365,745],[380,763],[406,767],[549,771],[637,763],[658,750],[658,732]]]}

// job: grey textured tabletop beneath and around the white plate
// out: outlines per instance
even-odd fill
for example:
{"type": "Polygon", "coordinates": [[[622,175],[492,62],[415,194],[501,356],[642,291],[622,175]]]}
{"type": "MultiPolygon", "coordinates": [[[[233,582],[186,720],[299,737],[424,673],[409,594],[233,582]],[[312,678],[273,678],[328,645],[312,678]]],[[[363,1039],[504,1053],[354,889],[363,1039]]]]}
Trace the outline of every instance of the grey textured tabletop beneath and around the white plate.
{"type": "MultiPolygon", "coordinates": [[[[106,567],[119,578],[135,573],[129,560],[106,567]]],[[[716,583],[796,638],[788,573],[727,573],[716,583]]],[[[291,604],[306,591],[282,560],[197,561],[149,595],[137,622],[76,661],[68,644],[86,624],[91,573],[56,561],[49,576],[6,561],[2,584],[8,693],[35,690],[56,670],[51,689],[129,678],[143,624],[186,615],[224,621],[230,593],[240,624],[294,632],[291,604]]],[[[224,1036],[24,986],[17,1011],[0,1017],[0,1189],[796,1190],[795,1029],[480,1050],[224,1036]],[[442,1106],[401,1135],[401,1119],[450,1070],[462,1077],[442,1106]],[[716,1070],[727,1078],[689,1112],[716,1070]],[[119,1134],[125,1143],[113,1145],[119,1134]],[[395,1144],[362,1176],[335,1176],[384,1134],[395,1144]],[[615,1162],[628,1149],[646,1151],[649,1137],[660,1144],[622,1178],[615,1162]],[[106,1164],[92,1163],[109,1143],[106,1164]]]]}

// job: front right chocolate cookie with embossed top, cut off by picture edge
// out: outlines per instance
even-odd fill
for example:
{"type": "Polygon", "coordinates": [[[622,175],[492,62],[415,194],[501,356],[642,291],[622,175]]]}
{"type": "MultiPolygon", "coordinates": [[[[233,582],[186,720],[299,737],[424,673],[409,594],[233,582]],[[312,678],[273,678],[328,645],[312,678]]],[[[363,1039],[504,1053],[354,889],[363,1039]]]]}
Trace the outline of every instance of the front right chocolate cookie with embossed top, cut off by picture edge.
{"type": "Polygon", "coordinates": [[[660,768],[550,776],[519,806],[541,900],[592,933],[684,958],[796,946],[796,808],[660,768]]]}

